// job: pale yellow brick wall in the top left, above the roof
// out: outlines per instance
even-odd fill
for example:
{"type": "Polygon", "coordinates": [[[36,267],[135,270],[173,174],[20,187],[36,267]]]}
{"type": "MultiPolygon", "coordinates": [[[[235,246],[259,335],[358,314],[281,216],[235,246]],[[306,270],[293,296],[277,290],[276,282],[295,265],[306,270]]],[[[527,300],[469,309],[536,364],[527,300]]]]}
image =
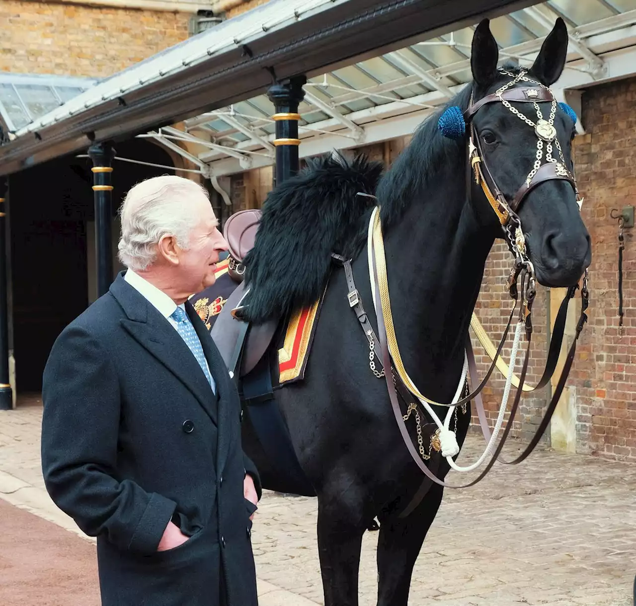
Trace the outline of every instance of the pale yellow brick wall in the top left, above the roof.
{"type": "Polygon", "coordinates": [[[186,13],[0,1],[0,71],[103,78],[188,38],[186,13]]]}

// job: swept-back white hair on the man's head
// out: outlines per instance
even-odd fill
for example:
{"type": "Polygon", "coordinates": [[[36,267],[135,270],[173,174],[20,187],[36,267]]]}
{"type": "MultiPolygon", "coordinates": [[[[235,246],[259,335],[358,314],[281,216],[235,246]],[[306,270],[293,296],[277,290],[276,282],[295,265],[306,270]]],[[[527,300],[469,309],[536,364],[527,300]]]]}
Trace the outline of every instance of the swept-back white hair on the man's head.
{"type": "Polygon", "coordinates": [[[120,209],[119,258],[127,268],[145,270],[156,259],[161,238],[174,236],[184,250],[190,247],[190,232],[199,217],[191,210],[196,196],[208,197],[205,188],[190,179],[166,175],[137,183],[120,209]]]}

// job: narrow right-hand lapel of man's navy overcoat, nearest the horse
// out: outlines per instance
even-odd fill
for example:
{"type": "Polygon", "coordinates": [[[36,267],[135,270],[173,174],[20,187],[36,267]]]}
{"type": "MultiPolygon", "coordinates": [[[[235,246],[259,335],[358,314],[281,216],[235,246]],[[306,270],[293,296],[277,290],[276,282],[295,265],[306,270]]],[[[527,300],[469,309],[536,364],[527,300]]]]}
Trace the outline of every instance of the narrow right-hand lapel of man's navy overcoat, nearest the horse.
{"type": "MultiPolygon", "coordinates": [[[[218,395],[218,452],[217,452],[217,465],[218,472],[223,471],[225,467],[225,461],[230,451],[230,444],[232,443],[232,411],[235,408],[238,401],[238,395],[236,389],[230,380],[228,368],[223,362],[223,357],[219,352],[214,340],[210,336],[209,331],[205,327],[203,320],[200,319],[195,308],[191,305],[190,301],[186,302],[186,312],[192,322],[192,326],[197,331],[199,341],[201,341],[201,347],[203,348],[207,363],[210,366],[210,372],[214,377],[216,383],[216,393],[218,395]]],[[[240,411],[236,411],[239,415],[240,411]]]]}

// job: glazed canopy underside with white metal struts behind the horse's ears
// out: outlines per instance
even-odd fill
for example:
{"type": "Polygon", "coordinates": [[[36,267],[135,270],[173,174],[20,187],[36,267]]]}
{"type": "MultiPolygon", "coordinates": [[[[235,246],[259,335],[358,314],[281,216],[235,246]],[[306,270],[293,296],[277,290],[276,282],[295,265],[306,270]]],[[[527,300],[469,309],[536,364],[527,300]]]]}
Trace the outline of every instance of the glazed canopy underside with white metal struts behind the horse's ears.
{"type": "MultiPolygon", "coordinates": [[[[519,10],[490,22],[490,29],[500,48],[502,59],[513,58],[531,65],[544,36],[557,17],[562,17],[570,32],[570,62],[588,59],[589,67],[572,67],[580,71],[598,69],[600,60],[586,46],[589,36],[611,32],[636,23],[636,0],[549,0],[519,10]],[[596,27],[598,25],[598,27],[596,27]],[[588,52],[589,50],[589,52],[588,52]]],[[[363,110],[403,101],[404,113],[431,107],[425,101],[430,93],[443,93],[442,102],[452,96],[455,86],[471,79],[469,57],[474,25],[459,31],[417,43],[408,48],[311,78],[305,85],[305,100],[300,104],[300,137],[320,135],[324,124],[340,121],[340,132],[349,120],[352,128],[364,124],[363,110]],[[355,123],[354,123],[355,121],[355,123]]],[[[434,105],[438,103],[435,102],[434,105]]],[[[274,123],[270,116],[273,104],[266,95],[245,100],[197,118],[185,121],[186,139],[207,142],[211,151],[199,155],[206,162],[226,157],[224,148],[250,155],[272,156],[274,123]]],[[[173,134],[174,135],[174,134],[173,134]]],[[[173,141],[178,137],[168,135],[173,141]]],[[[204,143],[205,145],[205,143],[204,143]]]]}

